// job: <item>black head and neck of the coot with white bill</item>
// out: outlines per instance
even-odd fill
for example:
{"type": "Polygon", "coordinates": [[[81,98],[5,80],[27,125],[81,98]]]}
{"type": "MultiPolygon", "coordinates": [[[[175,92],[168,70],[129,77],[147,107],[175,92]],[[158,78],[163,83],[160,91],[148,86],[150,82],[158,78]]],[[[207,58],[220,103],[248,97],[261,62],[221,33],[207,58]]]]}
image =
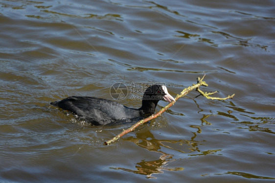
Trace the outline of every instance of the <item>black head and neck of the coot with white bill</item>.
{"type": "Polygon", "coordinates": [[[154,114],[160,100],[167,102],[175,101],[164,85],[152,85],[144,92],[140,109],[143,110],[145,114],[154,114]]]}

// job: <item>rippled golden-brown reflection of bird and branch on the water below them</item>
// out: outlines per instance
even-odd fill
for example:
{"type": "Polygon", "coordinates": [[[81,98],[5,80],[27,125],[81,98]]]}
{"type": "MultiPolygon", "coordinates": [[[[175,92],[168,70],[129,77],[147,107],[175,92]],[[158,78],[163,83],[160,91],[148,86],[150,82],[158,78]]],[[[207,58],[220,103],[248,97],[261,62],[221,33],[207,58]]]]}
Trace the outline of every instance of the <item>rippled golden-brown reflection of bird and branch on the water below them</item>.
{"type": "MultiPolygon", "coordinates": [[[[153,177],[153,174],[162,174],[163,171],[183,171],[183,164],[186,163],[186,159],[176,159],[175,155],[168,154],[165,151],[167,149],[174,150],[180,153],[186,154],[188,157],[197,157],[197,156],[206,156],[206,155],[222,155],[219,152],[222,149],[210,149],[206,151],[200,151],[199,146],[203,145],[205,140],[195,140],[197,134],[202,133],[202,126],[212,125],[206,119],[209,116],[214,114],[203,114],[201,118],[201,125],[190,125],[191,128],[196,129],[193,133],[193,136],[190,137],[190,140],[179,139],[179,140],[169,140],[169,139],[157,139],[149,130],[142,130],[141,132],[136,133],[136,137],[127,137],[124,140],[135,143],[141,148],[144,148],[151,152],[160,153],[161,155],[157,160],[140,160],[136,163],[136,169],[129,169],[123,167],[116,167],[113,169],[123,170],[126,172],[131,172],[135,174],[146,175],[147,178],[156,178],[153,177]],[[196,154],[191,154],[192,152],[198,152],[196,154]]],[[[172,125],[173,126],[173,125],[172,125]]]]}

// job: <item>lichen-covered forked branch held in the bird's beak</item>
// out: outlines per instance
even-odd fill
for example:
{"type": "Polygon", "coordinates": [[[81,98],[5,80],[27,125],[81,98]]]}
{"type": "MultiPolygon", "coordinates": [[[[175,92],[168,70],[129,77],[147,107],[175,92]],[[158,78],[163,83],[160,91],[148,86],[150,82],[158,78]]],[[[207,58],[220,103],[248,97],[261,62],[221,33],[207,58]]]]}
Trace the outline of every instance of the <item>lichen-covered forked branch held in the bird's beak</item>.
{"type": "MultiPolygon", "coordinates": [[[[187,89],[185,88],[185,89],[181,92],[181,94],[177,94],[177,96],[175,97],[175,101],[177,101],[179,98],[185,96],[186,94],[188,94],[189,92],[191,92],[191,91],[194,90],[194,89],[196,89],[198,92],[201,93],[202,91],[199,90],[199,87],[200,87],[200,86],[206,86],[206,87],[208,86],[208,85],[206,84],[206,82],[203,81],[203,79],[205,78],[205,76],[206,76],[206,74],[204,74],[204,76],[203,76],[202,79],[201,79],[201,78],[197,78],[197,81],[198,81],[197,84],[193,84],[192,86],[188,87],[187,89]]],[[[202,92],[202,94],[203,94],[203,93],[204,93],[204,92],[202,92]]],[[[215,93],[215,92],[213,92],[213,93],[215,93]]],[[[213,94],[213,93],[204,93],[203,95],[207,98],[207,97],[209,97],[209,96],[208,96],[209,94],[213,94]]],[[[228,99],[228,98],[232,98],[233,96],[234,96],[234,94],[231,95],[231,96],[229,96],[229,97],[227,97],[227,98],[210,97],[210,99],[215,99],[215,100],[226,100],[226,99],[228,99]]],[[[142,120],[138,121],[136,124],[134,124],[133,126],[131,126],[130,128],[128,128],[127,130],[123,130],[123,131],[122,131],[120,134],[118,134],[117,136],[115,136],[115,137],[113,137],[112,139],[110,139],[110,140],[104,142],[104,144],[105,144],[105,145],[110,145],[111,143],[115,142],[115,140],[119,139],[120,137],[122,137],[122,136],[124,136],[124,135],[126,135],[126,134],[128,134],[128,133],[130,133],[130,132],[133,132],[138,126],[140,126],[140,125],[142,125],[142,124],[144,124],[144,123],[146,123],[146,122],[148,122],[148,121],[150,121],[150,120],[152,120],[152,119],[154,119],[154,118],[160,116],[160,115],[161,115],[162,113],[164,113],[167,109],[169,109],[169,108],[175,103],[175,101],[170,102],[168,105],[166,105],[164,108],[162,108],[158,113],[152,114],[152,115],[150,115],[149,117],[147,117],[147,118],[145,118],[145,119],[142,119],[142,120]]]]}

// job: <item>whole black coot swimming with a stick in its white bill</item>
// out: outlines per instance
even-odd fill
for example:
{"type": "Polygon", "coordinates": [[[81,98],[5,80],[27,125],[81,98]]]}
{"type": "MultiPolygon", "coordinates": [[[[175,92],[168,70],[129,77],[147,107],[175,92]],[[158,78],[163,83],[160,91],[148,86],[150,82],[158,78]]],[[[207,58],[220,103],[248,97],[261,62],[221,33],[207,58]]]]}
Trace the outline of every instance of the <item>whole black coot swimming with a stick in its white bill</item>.
{"type": "Polygon", "coordinates": [[[131,121],[138,117],[154,114],[160,100],[171,102],[175,99],[161,85],[152,85],[146,89],[139,109],[128,108],[117,102],[96,97],[71,96],[50,104],[77,114],[92,125],[106,125],[117,121],[131,121]]]}

